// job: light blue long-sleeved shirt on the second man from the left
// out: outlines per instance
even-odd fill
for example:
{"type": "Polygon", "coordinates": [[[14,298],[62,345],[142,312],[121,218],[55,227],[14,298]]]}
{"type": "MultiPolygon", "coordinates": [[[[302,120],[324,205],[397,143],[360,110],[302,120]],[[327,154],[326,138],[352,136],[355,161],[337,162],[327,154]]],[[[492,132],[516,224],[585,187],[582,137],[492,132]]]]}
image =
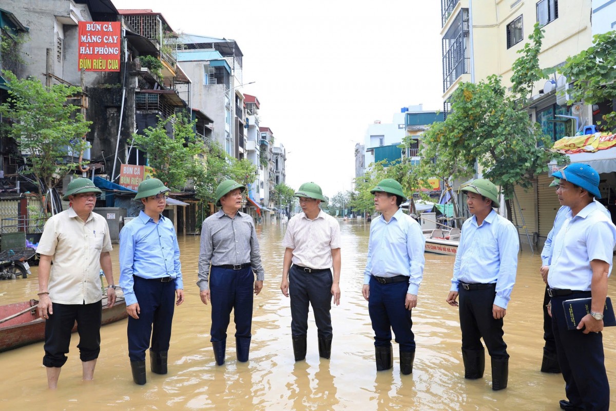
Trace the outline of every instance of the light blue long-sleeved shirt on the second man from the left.
{"type": "Polygon", "coordinates": [[[176,290],[183,289],[180,248],[172,222],[160,216],[154,222],[144,211],[120,232],[120,287],[126,305],[137,303],[133,275],[143,279],[175,279],[176,290]]]}

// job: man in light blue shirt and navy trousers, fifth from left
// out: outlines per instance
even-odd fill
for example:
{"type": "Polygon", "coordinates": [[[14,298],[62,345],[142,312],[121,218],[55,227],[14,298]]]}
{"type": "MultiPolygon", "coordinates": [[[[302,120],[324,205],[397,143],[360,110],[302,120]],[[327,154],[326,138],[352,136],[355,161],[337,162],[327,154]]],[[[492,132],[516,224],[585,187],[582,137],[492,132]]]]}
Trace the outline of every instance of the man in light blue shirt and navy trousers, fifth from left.
{"type": "Polygon", "coordinates": [[[393,366],[391,332],[400,346],[400,372],[413,372],[415,335],[411,310],[423,278],[426,239],[419,224],[400,210],[402,186],[384,179],[370,191],[382,214],[370,224],[368,259],[363,272],[363,298],[375,330],[376,370],[393,366]]]}

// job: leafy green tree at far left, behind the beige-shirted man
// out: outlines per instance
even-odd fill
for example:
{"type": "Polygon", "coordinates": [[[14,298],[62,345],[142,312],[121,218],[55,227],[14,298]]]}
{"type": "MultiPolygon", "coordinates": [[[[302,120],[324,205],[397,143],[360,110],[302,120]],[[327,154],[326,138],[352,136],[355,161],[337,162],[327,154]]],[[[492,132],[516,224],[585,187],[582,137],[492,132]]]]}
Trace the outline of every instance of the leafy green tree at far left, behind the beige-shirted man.
{"type": "MultiPolygon", "coordinates": [[[[11,71],[2,73],[9,91],[0,113],[12,121],[4,131],[25,153],[28,168],[23,173],[34,176],[38,197],[43,200],[48,189],[79,165],[76,159],[87,148],[84,137],[92,122],[84,120],[79,107],[67,102],[80,94],[81,88],[63,84],[46,87],[35,78],[18,79],[11,71]]],[[[42,204],[46,210],[46,201],[42,204]]]]}

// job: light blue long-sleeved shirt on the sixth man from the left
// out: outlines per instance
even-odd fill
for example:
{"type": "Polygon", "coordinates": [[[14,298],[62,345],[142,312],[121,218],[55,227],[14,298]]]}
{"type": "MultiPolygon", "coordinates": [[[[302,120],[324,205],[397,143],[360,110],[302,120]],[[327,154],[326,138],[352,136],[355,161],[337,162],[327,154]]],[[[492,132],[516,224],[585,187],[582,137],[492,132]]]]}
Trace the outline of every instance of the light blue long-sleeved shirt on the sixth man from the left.
{"type": "Polygon", "coordinates": [[[494,210],[481,226],[475,216],[464,221],[451,291],[458,291],[460,282],[496,283],[494,304],[506,309],[516,283],[519,248],[516,227],[494,210]]]}

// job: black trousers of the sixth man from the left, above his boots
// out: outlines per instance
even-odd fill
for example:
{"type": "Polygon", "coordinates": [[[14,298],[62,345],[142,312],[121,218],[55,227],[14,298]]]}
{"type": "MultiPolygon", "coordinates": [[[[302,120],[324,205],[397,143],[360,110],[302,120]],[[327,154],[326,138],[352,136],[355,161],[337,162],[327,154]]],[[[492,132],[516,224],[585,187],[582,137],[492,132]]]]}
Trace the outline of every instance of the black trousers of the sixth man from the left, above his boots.
{"type": "Polygon", "coordinates": [[[507,360],[507,344],[503,340],[503,319],[495,320],[492,306],[496,296],[496,284],[485,290],[464,290],[460,285],[460,328],[462,348],[481,350],[484,339],[490,357],[507,360]]]}

